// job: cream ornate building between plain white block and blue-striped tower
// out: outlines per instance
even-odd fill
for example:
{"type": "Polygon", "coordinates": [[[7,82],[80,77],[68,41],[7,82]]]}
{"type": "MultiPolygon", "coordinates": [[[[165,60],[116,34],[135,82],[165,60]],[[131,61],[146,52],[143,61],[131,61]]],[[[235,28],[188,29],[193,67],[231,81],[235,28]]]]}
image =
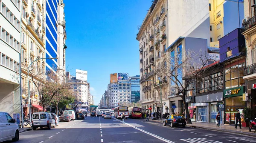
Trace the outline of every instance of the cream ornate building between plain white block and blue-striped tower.
{"type": "Polygon", "coordinates": [[[42,110],[39,106],[38,90],[32,82],[31,72],[33,76],[45,76],[45,59],[40,59],[45,57],[45,0],[22,0],[21,9],[21,85],[23,112],[27,115],[29,112],[28,96],[30,96],[32,112],[42,110]],[[32,62],[28,77],[28,67],[32,62]],[[30,95],[28,95],[28,78],[30,95]]]}

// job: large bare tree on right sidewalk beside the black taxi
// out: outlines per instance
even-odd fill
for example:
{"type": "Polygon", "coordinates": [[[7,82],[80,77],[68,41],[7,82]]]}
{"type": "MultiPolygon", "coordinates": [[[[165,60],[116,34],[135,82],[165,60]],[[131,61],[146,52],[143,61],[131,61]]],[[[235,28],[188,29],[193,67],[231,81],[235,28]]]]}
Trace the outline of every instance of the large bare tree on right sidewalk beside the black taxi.
{"type": "Polygon", "coordinates": [[[188,91],[195,90],[191,85],[207,72],[209,60],[212,60],[207,53],[202,51],[181,51],[173,49],[170,57],[166,57],[160,65],[156,66],[157,76],[160,77],[159,83],[167,83],[169,79],[170,91],[175,89],[175,93],[183,100],[185,106],[187,123],[192,124],[188,106],[185,102],[188,91]]]}

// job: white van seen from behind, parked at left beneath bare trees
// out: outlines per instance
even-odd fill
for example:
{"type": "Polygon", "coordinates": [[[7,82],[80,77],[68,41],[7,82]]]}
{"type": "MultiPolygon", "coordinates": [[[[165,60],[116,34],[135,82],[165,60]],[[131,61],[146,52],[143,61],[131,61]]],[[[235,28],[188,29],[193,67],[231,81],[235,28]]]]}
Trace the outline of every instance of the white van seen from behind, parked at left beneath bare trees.
{"type": "Polygon", "coordinates": [[[52,119],[52,115],[47,112],[36,112],[32,115],[32,128],[36,130],[38,127],[48,127],[51,129],[51,126],[55,127],[55,120],[52,119]]]}

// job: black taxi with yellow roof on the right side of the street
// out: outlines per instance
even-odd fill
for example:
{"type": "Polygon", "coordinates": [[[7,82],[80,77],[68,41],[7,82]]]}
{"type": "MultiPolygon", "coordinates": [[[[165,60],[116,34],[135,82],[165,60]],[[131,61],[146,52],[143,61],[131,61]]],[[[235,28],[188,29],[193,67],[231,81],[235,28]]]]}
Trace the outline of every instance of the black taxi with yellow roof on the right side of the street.
{"type": "Polygon", "coordinates": [[[182,126],[183,128],[186,127],[186,120],[182,115],[168,115],[165,120],[163,120],[163,126],[182,126]]]}

